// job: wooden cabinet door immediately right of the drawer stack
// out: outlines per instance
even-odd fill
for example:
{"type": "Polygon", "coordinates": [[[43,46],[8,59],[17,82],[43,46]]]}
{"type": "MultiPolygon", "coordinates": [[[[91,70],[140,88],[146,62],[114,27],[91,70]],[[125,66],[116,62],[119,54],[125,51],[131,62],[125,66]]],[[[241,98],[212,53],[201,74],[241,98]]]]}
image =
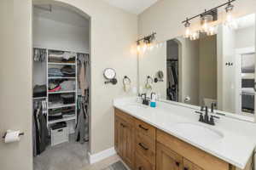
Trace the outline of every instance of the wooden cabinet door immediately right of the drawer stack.
{"type": "Polygon", "coordinates": [[[183,158],[163,144],[157,143],[156,170],[183,170],[183,158]]]}

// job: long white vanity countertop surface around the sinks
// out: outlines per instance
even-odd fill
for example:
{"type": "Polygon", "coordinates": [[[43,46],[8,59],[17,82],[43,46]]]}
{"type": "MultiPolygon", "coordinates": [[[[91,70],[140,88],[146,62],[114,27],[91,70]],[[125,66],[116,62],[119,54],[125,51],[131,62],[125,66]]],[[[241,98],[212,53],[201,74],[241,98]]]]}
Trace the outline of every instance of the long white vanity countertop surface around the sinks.
{"type": "Polygon", "coordinates": [[[252,122],[220,116],[216,126],[211,126],[198,122],[199,115],[193,109],[164,102],[157,102],[157,107],[151,108],[138,104],[135,98],[114,99],[113,106],[241,169],[246,167],[256,146],[256,124],[252,122]],[[177,123],[211,128],[223,138],[211,142],[206,142],[204,136],[195,139],[177,130],[177,123]]]}

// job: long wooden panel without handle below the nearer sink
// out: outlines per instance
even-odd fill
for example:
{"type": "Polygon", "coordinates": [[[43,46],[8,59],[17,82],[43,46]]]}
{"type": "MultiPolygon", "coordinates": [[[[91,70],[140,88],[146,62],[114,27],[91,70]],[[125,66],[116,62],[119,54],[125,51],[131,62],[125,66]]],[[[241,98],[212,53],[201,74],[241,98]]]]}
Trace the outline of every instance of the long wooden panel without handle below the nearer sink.
{"type": "Polygon", "coordinates": [[[218,167],[218,170],[229,170],[230,168],[229,163],[161,130],[157,130],[156,139],[177,154],[186,157],[189,161],[196,162],[199,167],[206,170],[216,170],[216,167],[218,167]]]}

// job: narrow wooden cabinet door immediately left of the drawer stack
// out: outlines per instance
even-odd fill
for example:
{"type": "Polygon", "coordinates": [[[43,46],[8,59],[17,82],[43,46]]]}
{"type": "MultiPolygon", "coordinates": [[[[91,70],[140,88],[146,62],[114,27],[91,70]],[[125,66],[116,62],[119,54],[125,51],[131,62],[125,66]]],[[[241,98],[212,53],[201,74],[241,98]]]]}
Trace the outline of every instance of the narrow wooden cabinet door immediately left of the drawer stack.
{"type": "Polygon", "coordinates": [[[134,165],[134,156],[135,156],[135,150],[134,150],[134,131],[133,127],[130,123],[122,122],[123,123],[123,129],[124,129],[124,159],[125,162],[128,164],[129,167],[133,168],[134,165]]]}

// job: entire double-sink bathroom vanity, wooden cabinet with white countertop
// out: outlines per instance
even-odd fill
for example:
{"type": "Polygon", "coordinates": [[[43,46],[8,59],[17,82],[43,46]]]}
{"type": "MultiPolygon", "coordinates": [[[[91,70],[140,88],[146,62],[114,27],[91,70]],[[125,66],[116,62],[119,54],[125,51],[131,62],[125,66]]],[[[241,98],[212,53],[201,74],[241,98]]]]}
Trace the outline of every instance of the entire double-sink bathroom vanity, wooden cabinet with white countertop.
{"type": "Polygon", "coordinates": [[[131,170],[251,169],[255,135],[242,131],[255,129],[253,123],[223,116],[211,126],[198,122],[195,110],[163,102],[150,108],[116,99],[113,105],[114,147],[131,170]],[[235,123],[241,132],[232,129],[235,123]]]}

